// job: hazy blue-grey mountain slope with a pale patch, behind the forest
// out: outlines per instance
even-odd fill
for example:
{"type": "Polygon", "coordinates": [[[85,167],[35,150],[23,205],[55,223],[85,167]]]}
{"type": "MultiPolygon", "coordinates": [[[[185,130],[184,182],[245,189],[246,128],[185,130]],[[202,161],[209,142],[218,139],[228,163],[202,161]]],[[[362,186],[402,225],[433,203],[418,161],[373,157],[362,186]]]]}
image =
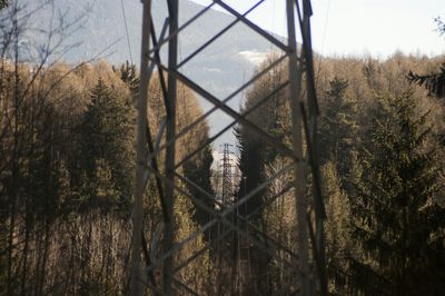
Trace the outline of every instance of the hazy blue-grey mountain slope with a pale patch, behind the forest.
{"type": "MultiPolygon", "coordinates": [[[[179,2],[179,26],[204,8],[188,0],[179,2]]],[[[68,12],[66,13],[68,18],[76,18],[88,11],[81,28],[69,38],[69,42],[79,43],[79,46],[65,57],[68,62],[76,63],[88,60],[110,47],[101,56],[111,63],[121,63],[132,57],[134,62],[138,65],[142,9],[140,1],[123,0],[131,56],[128,49],[120,0],[83,0],[81,2],[79,0],[55,0],[55,4],[59,11],[68,12]]],[[[166,1],[152,1],[152,11],[156,31],[159,36],[167,17],[166,1]]],[[[41,17],[48,18],[48,16],[41,17]]],[[[233,20],[231,16],[216,10],[205,13],[181,32],[179,60],[186,59],[195,48],[205,43],[233,20]]],[[[161,52],[164,59],[166,48],[161,52]]],[[[210,90],[212,95],[224,99],[251,77],[258,61],[261,61],[266,53],[271,50],[275,50],[275,48],[270,42],[253,32],[245,24],[237,23],[180,70],[195,82],[210,90]]],[[[237,96],[229,105],[239,109],[240,100],[241,96],[237,96]]],[[[205,100],[201,99],[200,101],[205,110],[211,107],[205,100]]],[[[211,116],[209,118],[211,134],[221,129],[227,121],[228,117],[221,112],[211,116]]],[[[234,141],[231,132],[226,134],[218,144],[224,141],[234,141]]]]}

